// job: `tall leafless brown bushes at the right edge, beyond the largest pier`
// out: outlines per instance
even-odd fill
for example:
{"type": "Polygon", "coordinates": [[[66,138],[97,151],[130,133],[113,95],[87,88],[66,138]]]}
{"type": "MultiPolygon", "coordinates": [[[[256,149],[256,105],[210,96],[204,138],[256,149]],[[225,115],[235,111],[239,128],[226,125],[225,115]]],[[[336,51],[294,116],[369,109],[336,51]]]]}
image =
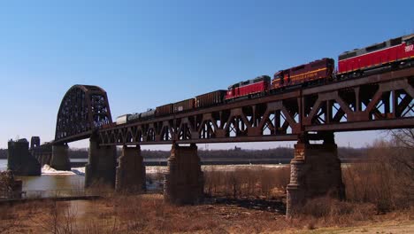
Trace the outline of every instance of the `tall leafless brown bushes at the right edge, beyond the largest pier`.
{"type": "Polygon", "coordinates": [[[414,155],[407,149],[377,142],[368,151],[370,163],[342,169],[347,199],[374,204],[378,213],[414,206],[414,155]]]}

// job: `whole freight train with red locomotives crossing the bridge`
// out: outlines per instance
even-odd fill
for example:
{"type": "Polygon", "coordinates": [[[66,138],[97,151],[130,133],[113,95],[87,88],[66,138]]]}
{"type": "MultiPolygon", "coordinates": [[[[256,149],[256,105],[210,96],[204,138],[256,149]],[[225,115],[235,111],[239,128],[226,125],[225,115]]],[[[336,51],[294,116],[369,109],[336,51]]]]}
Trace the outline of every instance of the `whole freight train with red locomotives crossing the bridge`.
{"type": "MultiPolygon", "coordinates": [[[[309,85],[320,85],[341,79],[356,78],[363,74],[397,69],[414,64],[414,34],[403,35],[363,49],[346,51],[338,56],[335,70],[333,58],[322,58],[301,66],[280,70],[273,75],[230,85],[227,90],[217,90],[173,104],[161,105],[144,113],[128,113],[117,118],[116,124],[146,121],[192,109],[222,105],[247,98],[257,98],[309,85]]],[[[107,126],[103,126],[106,128],[107,126]]]]}

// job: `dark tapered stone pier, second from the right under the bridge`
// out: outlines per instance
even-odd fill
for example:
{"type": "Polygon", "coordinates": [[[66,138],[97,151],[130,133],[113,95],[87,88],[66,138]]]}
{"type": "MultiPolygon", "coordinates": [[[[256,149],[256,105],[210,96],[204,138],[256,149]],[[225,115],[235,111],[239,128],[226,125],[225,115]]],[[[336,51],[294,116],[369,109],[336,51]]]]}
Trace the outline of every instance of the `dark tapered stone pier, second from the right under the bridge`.
{"type": "Polygon", "coordinates": [[[176,205],[197,204],[203,200],[203,186],[196,144],[173,144],[165,175],[165,201],[176,205]]]}

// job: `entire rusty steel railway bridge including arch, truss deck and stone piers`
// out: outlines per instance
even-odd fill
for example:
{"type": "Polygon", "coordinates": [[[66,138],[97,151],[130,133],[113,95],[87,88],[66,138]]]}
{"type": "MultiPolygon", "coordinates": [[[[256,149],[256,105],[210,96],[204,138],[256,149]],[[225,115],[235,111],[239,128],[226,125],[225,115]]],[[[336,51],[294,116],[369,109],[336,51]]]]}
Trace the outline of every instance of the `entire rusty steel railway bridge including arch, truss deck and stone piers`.
{"type": "Polygon", "coordinates": [[[414,128],[413,98],[414,67],[409,67],[114,125],[106,92],[75,85],[59,107],[51,150],[44,147],[49,150],[37,156],[51,159],[53,168],[70,169],[67,143],[89,138],[85,185],[99,182],[142,191],[146,183],[140,145],[171,144],[165,200],[181,204],[203,199],[196,144],[297,141],[287,187],[290,215],[306,199],[328,193],[344,198],[334,132],[414,128]],[[116,145],[123,145],[118,163],[116,145]]]}

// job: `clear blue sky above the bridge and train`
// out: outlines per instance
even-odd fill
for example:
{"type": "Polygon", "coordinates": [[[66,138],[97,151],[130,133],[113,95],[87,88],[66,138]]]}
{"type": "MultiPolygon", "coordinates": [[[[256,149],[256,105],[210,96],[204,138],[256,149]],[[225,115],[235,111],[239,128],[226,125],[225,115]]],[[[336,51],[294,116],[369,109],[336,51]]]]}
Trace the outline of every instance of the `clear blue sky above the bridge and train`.
{"type": "MultiPolygon", "coordinates": [[[[73,84],[106,90],[113,118],[142,112],[413,33],[412,6],[412,1],[2,1],[0,147],[18,135],[52,139],[58,106],[73,84]]],[[[337,141],[364,146],[376,137],[378,132],[348,133],[337,141]]]]}

